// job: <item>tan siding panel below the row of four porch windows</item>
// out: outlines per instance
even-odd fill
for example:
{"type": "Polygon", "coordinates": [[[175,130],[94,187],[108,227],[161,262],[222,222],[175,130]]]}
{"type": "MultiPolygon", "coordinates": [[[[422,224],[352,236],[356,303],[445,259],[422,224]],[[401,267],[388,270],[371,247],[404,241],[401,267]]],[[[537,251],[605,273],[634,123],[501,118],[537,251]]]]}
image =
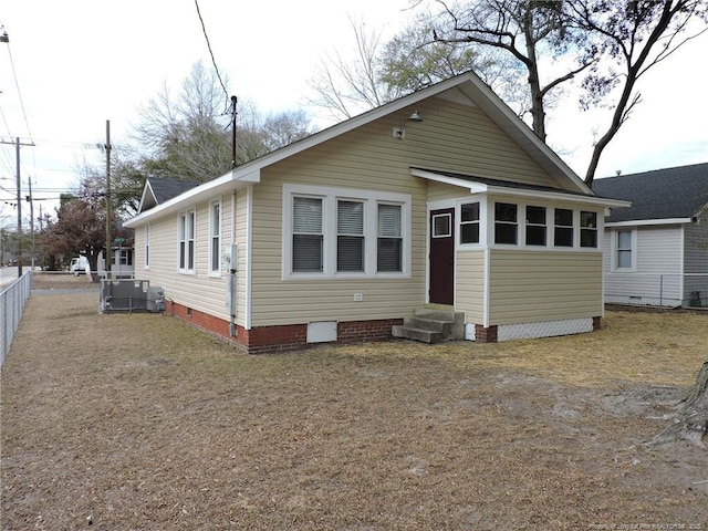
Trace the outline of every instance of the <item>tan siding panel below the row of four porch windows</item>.
{"type": "Polygon", "coordinates": [[[490,253],[491,325],[602,315],[602,253],[490,253]]]}

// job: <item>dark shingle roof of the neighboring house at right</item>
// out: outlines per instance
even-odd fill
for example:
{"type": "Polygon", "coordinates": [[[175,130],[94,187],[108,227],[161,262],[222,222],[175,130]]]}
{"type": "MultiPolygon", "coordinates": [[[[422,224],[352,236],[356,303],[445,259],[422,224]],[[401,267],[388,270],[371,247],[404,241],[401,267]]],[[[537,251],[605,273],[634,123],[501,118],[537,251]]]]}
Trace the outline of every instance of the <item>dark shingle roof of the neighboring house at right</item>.
{"type": "Polygon", "coordinates": [[[608,223],[675,220],[688,222],[708,205],[708,163],[596,179],[597,195],[632,201],[613,210],[608,223]]]}

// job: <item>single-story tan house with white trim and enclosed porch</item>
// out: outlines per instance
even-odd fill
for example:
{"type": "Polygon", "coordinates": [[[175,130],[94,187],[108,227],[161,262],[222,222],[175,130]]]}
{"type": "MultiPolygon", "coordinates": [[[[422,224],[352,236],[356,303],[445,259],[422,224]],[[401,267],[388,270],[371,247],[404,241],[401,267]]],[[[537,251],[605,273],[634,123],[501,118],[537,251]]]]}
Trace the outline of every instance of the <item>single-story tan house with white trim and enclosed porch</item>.
{"type": "Polygon", "coordinates": [[[168,312],[257,353],[415,337],[448,319],[413,319],[430,305],[447,336],[590,332],[603,220],[627,205],[467,73],[162,202],[146,192],[125,226],[168,312]]]}

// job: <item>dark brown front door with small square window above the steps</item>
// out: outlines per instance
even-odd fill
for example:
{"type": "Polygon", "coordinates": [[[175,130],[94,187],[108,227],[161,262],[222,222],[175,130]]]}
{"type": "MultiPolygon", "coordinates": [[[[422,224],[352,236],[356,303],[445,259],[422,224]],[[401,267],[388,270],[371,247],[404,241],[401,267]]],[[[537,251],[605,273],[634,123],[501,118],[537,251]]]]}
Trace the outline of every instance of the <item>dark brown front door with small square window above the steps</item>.
{"type": "Polygon", "coordinates": [[[430,211],[430,302],[455,302],[455,209],[430,211]]]}

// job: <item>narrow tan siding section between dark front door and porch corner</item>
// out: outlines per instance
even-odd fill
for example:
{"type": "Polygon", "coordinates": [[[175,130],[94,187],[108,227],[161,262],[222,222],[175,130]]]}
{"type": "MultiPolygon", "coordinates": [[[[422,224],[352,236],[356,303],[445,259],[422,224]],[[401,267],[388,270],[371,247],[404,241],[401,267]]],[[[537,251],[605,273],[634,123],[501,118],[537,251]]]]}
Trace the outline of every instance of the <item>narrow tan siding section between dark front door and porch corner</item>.
{"type": "Polygon", "coordinates": [[[485,251],[457,251],[455,264],[455,309],[465,312],[468,323],[485,320],[485,251]]]}

